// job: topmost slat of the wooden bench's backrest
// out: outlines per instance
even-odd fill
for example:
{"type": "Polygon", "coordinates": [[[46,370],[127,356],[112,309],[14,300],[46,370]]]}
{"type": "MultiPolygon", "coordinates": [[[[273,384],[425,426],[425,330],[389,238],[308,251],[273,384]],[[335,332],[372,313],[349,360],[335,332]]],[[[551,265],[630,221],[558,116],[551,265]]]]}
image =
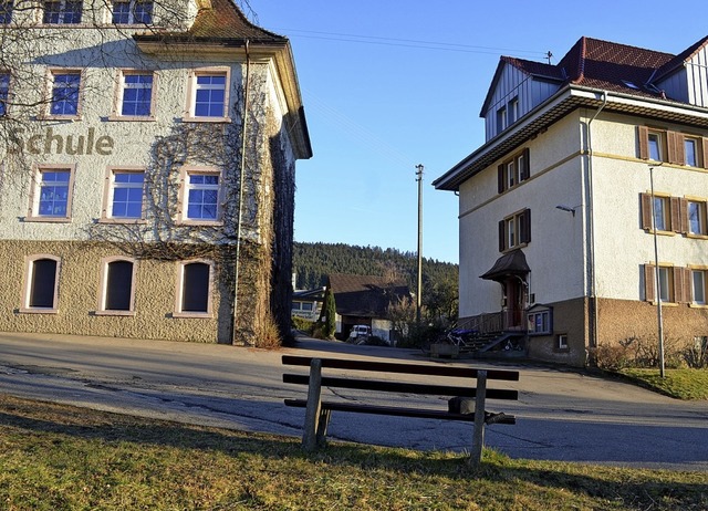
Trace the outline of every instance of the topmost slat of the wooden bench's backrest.
{"type": "MultiPolygon", "coordinates": [[[[347,361],[344,358],[321,358],[322,367],[350,371],[373,371],[377,373],[423,374],[428,376],[450,376],[476,378],[479,369],[471,367],[451,367],[446,365],[423,365],[397,362],[347,361]]],[[[310,367],[312,357],[283,355],[283,365],[310,367]]],[[[487,379],[518,382],[518,371],[487,369],[487,379]]]]}

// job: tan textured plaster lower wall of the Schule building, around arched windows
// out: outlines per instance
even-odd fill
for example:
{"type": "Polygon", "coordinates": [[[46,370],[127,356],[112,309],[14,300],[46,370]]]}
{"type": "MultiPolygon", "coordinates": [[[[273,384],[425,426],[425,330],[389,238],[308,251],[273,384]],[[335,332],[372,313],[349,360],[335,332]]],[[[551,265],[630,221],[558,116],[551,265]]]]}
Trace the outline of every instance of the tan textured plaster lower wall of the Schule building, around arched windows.
{"type": "MultiPolygon", "coordinates": [[[[0,242],[6,261],[0,279],[0,331],[50,332],[62,334],[138,337],[216,343],[219,321],[176,319],[177,263],[137,261],[135,315],[97,315],[101,259],[122,255],[115,249],[86,242],[0,242]],[[59,312],[20,313],[27,286],[25,254],[52,254],[61,258],[59,312]]],[[[219,282],[215,282],[217,288],[219,282]]],[[[214,293],[214,310],[219,310],[219,292],[214,293]]],[[[223,332],[221,332],[223,335],[223,332]]]]}

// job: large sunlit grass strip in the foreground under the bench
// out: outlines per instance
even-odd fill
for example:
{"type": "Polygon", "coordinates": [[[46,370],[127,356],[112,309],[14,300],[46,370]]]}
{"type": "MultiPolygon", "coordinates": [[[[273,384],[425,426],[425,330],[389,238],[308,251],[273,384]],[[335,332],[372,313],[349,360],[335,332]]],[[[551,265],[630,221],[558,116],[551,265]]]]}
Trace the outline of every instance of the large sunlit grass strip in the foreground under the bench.
{"type": "Polygon", "coordinates": [[[333,444],[0,395],[3,510],[705,510],[708,474],[333,444]]]}

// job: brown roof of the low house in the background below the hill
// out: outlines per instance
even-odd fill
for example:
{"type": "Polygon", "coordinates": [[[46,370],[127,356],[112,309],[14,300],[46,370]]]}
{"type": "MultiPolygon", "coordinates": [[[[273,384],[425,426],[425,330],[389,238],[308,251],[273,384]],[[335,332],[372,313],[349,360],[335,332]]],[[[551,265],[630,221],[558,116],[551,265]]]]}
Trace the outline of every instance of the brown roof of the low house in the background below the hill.
{"type": "Polygon", "coordinates": [[[395,299],[410,295],[407,285],[375,275],[335,273],[329,277],[329,286],[337,314],[348,316],[385,317],[395,299]]]}

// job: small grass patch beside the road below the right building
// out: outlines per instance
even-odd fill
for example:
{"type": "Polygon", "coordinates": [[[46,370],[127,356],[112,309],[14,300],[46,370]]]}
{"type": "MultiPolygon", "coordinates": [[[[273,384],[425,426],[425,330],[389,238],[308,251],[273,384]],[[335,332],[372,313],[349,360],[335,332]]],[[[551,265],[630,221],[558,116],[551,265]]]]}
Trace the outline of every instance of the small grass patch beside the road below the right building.
{"type": "Polygon", "coordinates": [[[620,372],[638,385],[678,399],[708,400],[708,371],[666,369],[664,378],[658,369],[625,368],[620,372]]]}

